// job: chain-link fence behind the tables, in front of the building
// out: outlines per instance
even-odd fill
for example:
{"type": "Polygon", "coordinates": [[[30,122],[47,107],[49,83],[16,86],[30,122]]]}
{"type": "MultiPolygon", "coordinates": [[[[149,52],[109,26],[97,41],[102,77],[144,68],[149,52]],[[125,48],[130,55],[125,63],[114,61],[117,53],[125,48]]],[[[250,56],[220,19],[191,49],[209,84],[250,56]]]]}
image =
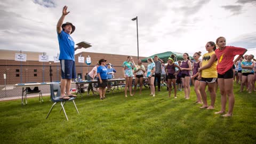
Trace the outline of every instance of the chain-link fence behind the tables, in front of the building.
{"type": "MultiPolygon", "coordinates": [[[[76,66],[76,74],[82,79],[86,79],[88,71],[94,66],[76,66]]],[[[122,67],[116,67],[117,77],[122,74],[122,67]]],[[[15,87],[15,84],[60,82],[60,66],[20,66],[20,65],[0,65],[0,101],[21,99],[22,87],[15,87]],[[5,75],[5,78],[4,78],[5,75]]],[[[74,81],[74,79],[73,79],[74,81]]],[[[34,87],[30,87],[34,89],[34,87]]],[[[50,86],[42,85],[38,87],[43,95],[50,95],[50,86]]],[[[71,89],[76,85],[71,84],[71,89]]],[[[39,94],[31,94],[28,97],[39,97],[39,94]]]]}

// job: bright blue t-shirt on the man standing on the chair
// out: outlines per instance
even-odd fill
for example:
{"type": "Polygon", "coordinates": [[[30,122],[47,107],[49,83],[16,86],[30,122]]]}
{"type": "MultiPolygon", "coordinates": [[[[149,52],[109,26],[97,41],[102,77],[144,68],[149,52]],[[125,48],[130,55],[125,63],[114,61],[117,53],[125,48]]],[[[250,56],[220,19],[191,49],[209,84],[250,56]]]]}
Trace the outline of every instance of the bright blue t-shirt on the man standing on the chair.
{"type": "Polygon", "coordinates": [[[75,61],[75,42],[73,38],[61,30],[61,33],[58,34],[58,41],[60,46],[59,60],[75,61]]]}

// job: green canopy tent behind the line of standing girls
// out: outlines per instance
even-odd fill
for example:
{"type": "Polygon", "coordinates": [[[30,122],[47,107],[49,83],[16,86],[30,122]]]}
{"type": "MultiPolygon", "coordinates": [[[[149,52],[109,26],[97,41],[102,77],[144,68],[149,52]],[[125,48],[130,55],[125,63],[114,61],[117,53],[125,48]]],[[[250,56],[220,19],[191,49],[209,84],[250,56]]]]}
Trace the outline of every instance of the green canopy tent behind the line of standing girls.
{"type": "MultiPolygon", "coordinates": [[[[147,62],[148,58],[154,59],[155,55],[157,55],[158,58],[162,59],[164,61],[164,63],[166,63],[168,58],[171,57],[172,54],[175,55],[175,60],[174,61],[183,60],[182,53],[175,53],[175,52],[167,51],[167,52],[157,53],[157,54],[151,55],[150,57],[142,59],[141,62],[147,62]]],[[[189,58],[193,59],[192,57],[189,57],[189,58]]]]}

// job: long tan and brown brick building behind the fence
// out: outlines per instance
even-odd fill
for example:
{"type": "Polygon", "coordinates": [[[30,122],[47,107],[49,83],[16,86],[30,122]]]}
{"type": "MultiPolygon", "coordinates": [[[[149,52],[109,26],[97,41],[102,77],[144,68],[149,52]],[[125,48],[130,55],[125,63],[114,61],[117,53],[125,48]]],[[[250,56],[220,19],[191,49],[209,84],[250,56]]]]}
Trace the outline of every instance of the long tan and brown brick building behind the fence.
{"type": "MultiPolygon", "coordinates": [[[[4,74],[6,74],[6,84],[60,81],[60,63],[54,63],[53,61],[39,62],[38,55],[42,55],[43,52],[22,51],[23,54],[27,54],[26,62],[15,61],[15,53],[20,52],[0,50],[0,85],[4,85],[4,74]]],[[[91,71],[94,65],[102,58],[106,59],[107,63],[114,65],[114,68],[117,71],[117,73],[115,73],[116,78],[123,76],[121,65],[127,59],[127,55],[92,52],[75,54],[76,73],[82,75],[84,79],[88,71],[91,71]],[[90,55],[92,61],[91,65],[87,66],[86,63],[78,63],[78,57],[80,55],[85,57],[85,59],[90,55]]],[[[143,58],[145,57],[140,57],[140,59],[143,58]]],[[[133,59],[137,62],[137,56],[133,56],[133,59]]],[[[146,65],[147,64],[145,63],[145,66],[146,65]]]]}

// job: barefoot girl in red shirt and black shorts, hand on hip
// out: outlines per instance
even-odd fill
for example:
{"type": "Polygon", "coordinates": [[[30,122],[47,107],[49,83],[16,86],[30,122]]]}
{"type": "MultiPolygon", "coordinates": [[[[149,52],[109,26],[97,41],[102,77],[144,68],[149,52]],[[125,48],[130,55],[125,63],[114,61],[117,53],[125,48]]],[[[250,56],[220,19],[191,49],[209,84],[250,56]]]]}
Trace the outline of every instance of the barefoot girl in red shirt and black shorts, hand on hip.
{"type": "Polygon", "coordinates": [[[218,37],[216,39],[216,44],[219,46],[219,49],[215,50],[215,54],[217,55],[218,58],[217,71],[218,84],[220,87],[221,94],[221,110],[215,114],[224,114],[226,112],[226,103],[228,95],[228,113],[222,115],[224,117],[228,117],[233,115],[233,108],[235,105],[235,97],[233,92],[234,74],[232,66],[234,65],[234,62],[241,58],[247,50],[241,47],[226,46],[225,37],[218,37]],[[234,60],[236,55],[238,55],[238,57],[234,60]]]}

